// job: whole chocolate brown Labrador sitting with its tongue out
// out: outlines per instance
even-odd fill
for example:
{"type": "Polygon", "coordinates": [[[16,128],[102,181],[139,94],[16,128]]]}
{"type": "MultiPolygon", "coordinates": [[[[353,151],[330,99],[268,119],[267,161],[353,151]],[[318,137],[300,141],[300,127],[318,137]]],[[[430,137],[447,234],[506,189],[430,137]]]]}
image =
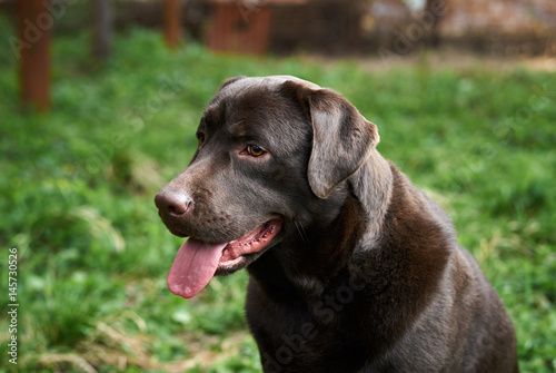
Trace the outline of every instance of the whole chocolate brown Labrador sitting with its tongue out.
{"type": "Polygon", "coordinates": [[[247,268],[265,372],[518,372],[512,321],[450,219],[341,95],[230,79],[197,138],[156,197],[190,237],[168,286],[190,298],[247,268]]]}

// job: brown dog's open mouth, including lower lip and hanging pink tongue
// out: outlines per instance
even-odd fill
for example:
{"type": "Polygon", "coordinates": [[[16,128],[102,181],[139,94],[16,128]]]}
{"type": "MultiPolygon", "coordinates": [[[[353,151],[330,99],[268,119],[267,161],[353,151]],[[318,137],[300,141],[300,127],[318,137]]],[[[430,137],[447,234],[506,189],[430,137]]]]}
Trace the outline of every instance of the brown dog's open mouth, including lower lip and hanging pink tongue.
{"type": "Polygon", "coordinates": [[[189,238],[176,254],[167,284],[170,292],[185,298],[197,295],[217,271],[241,268],[245,255],[262,251],[281,228],[281,219],[269,220],[245,236],[229,243],[210,244],[189,238]]]}

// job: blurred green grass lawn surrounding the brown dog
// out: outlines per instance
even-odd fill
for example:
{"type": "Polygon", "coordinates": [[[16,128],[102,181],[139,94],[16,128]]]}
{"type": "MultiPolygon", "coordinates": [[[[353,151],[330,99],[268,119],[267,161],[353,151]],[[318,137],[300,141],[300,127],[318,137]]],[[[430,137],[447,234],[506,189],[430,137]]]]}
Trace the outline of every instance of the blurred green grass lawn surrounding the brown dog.
{"type": "MultiPolygon", "coordinates": [[[[0,20],[0,36],[11,30],[0,20]]],[[[517,328],[523,372],[556,372],[556,78],[512,71],[368,73],[288,58],[171,53],[158,33],[115,39],[100,68],[87,35],[57,36],[53,107],[18,110],[0,57],[0,246],[18,248],[20,372],[259,372],[244,320],[246,273],[193,301],[169,293],[181,239],[153,196],[185,168],[220,82],[291,73],[331,87],[379,127],[379,151],[450,214],[517,328]]],[[[7,312],[4,285],[2,314],[7,312]]],[[[0,372],[7,362],[0,321],[0,372]]]]}

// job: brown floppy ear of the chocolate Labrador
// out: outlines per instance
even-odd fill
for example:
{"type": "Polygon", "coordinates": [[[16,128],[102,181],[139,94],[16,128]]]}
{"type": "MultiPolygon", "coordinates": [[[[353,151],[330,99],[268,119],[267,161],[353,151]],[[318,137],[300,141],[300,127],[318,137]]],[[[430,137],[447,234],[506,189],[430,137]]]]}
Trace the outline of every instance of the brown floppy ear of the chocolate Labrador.
{"type": "Polygon", "coordinates": [[[299,101],[312,125],[308,179],[312,193],[327,198],[365,163],[378,144],[377,127],[340,94],[288,80],[285,92],[299,101]]]}

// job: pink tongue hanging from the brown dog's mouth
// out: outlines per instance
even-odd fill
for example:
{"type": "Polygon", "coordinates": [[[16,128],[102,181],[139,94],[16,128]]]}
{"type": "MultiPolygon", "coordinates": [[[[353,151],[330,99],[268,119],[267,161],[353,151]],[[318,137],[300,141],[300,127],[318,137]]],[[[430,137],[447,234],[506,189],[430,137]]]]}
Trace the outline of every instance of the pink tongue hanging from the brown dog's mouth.
{"type": "Polygon", "coordinates": [[[189,238],[181,245],[166,278],[172,294],[191,298],[207,286],[215,275],[225,244],[207,244],[189,238]]]}

